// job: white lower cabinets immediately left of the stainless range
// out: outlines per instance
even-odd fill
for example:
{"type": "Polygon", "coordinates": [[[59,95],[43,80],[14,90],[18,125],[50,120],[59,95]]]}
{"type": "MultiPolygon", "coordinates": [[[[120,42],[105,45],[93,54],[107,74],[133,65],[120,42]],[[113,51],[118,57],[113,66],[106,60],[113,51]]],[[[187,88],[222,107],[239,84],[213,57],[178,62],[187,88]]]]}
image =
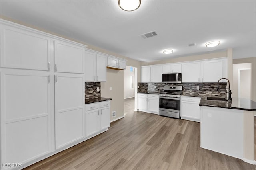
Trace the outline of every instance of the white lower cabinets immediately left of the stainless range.
{"type": "Polygon", "coordinates": [[[147,112],[147,113],[154,113],[159,114],[159,95],[158,94],[142,94],[138,93],[138,110],[147,112]]]}

